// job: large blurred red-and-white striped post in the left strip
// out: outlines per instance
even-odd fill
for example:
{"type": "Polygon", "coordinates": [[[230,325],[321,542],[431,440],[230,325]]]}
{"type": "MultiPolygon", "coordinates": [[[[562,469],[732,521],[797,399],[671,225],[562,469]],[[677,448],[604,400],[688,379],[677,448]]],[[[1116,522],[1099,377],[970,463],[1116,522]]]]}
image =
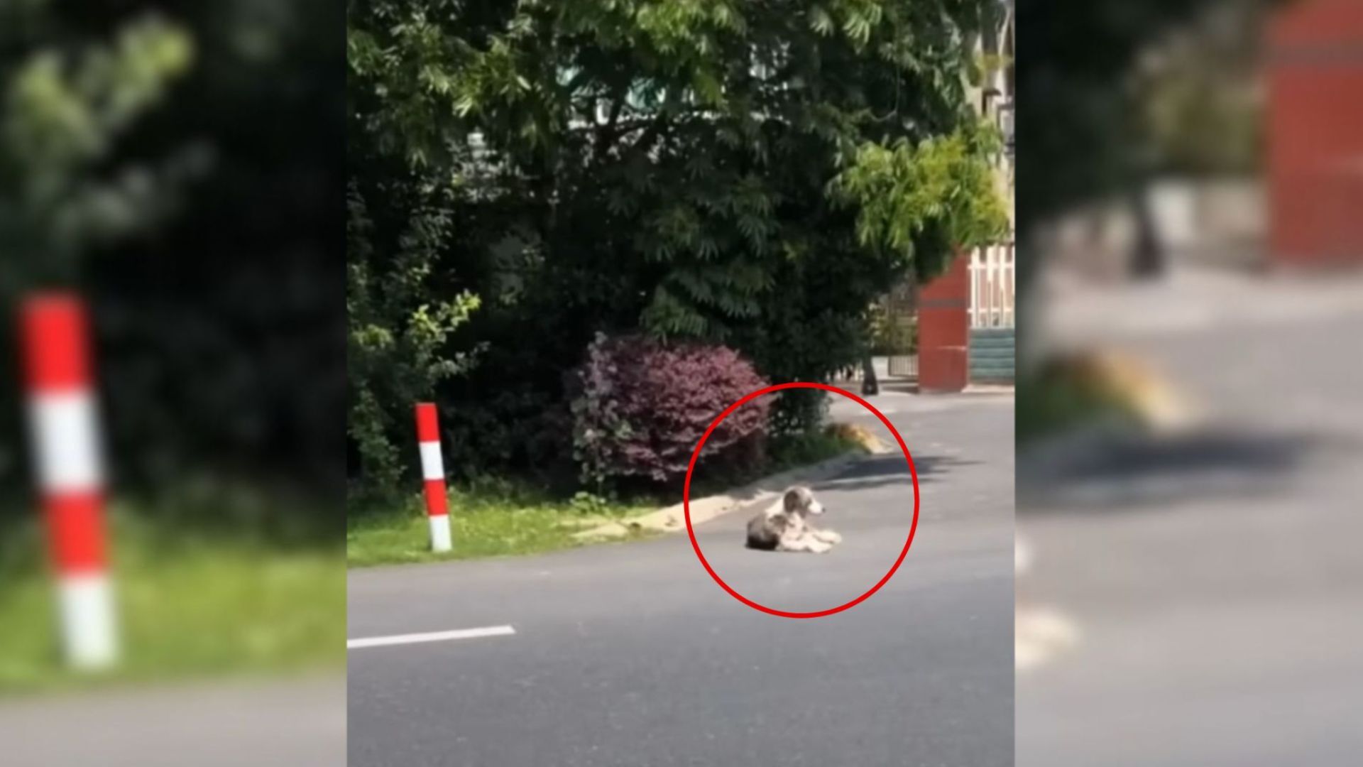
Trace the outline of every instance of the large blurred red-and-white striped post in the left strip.
{"type": "Polygon", "coordinates": [[[27,299],[20,333],[33,463],[57,576],[67,661],[79,669],[117,661],[119,636],[104,531],[104,456],[83,302],[27,299]]]}

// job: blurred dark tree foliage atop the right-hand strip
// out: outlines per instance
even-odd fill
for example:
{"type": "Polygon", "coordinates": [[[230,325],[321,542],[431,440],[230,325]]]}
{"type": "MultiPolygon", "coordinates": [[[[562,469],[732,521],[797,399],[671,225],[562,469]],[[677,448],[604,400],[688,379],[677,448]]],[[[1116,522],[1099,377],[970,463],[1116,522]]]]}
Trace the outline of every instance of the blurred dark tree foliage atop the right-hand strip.
{"type": "Polygon", "coordinates": [[[1028,184],[1017,202],[1020,292],[1044,257],[1032,239],[1037,227],[1065,210],[1130,194],[1157,169],[1243,169],[1255,141],[1243,127],[1253,120],[1242,93],[1221,87],[1225,81],[1209,64],[1231,56],[1238,75],[1244,41],[1280,3],[1099,0],[1058,12],[1054,3],[1017,1],[1018,34],[1028,41],[1017,74],[1017,101],[1026,113],[1017,132],[1018,172],[1028,184]],[[1214,46],[1201,48],[1201,56],[1197,46],[1175,48],[1163,64],[1142,67],[1144,53],[1209,12],[1236,19],[1229,41],[1212,35],[1214,46]],[[1236,130],[1227,131],[1232,124],[1236,130]]]}

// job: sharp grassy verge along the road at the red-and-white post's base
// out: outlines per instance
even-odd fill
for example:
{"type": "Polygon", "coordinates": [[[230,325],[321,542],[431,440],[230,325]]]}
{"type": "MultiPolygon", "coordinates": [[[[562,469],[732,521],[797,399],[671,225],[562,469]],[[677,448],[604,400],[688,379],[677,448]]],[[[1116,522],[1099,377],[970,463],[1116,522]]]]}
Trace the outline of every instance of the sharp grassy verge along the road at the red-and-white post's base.
{"type": "MultiPolygon", "coordinates": [[[[762,472],[706,483],[696,480],[692,497],[724,490],[759,475],[776,474],[840,456],[866,452],[855,437],[829,430],[822,434],[773,439],[770,461],[762,472]]],[[[431,562],[512,554],[536,554],[583,546],[575,532],[611,520],[628,519],[680,501],[671,497],[604,500],[578,495],[555,498],[549,493],[508,480],[480,479],[450,489],[450,527],[454,550],[432,553],[429,528],[420,495],[397,501],[356,504],[346,523],[346,560],[350,566],[431,562]]],[[[647,534],[638,534],[639,536],[647,534]]]]}

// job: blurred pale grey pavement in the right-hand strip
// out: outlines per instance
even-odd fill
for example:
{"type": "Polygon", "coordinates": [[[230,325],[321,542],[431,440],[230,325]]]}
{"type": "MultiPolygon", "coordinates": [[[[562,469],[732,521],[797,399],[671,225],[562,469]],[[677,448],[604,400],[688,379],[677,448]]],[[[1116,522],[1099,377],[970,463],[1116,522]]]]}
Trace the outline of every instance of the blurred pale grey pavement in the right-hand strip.
{"type": "Polygon", "coordinates": [[[1349,295],[1363,281],[1191,273],[1065,299],[1059,340],[1154,360],[1205,420],[1059,464],[1020,456],[1018,530],[1036,551],[1020,595],[1082,633],[1018,680],[1020,766],[1358,763],[1363,300],[1349,295]]]}

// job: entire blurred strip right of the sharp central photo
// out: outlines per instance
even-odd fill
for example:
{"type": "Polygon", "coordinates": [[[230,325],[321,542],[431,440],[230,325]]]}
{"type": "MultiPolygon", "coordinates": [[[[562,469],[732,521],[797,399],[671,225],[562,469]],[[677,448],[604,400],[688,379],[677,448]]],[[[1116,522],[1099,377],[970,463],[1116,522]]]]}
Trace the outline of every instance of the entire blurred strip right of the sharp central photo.
{"type": "Polygon", "coordinates": [[[1363,3],[1017,8],[1017,763],[1353,763],[1363,3]]]}

